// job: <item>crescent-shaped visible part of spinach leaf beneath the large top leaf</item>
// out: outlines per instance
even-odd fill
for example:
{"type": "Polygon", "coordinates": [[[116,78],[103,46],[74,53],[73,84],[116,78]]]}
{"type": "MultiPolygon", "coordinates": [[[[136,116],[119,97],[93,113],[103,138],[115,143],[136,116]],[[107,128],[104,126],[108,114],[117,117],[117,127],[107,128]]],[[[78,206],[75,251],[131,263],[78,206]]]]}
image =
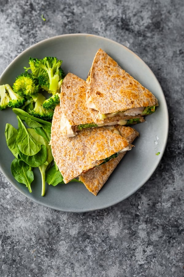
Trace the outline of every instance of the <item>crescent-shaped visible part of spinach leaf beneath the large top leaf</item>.
{"type": "MultiPolygon", "coordinates": [[[[27,163],[30,167],[40,167],[43,163],[46,162],[47,159],[47,147],[45,145],[41,145],[41,149],[38,153],[33,156],[27,156],[19,151],[19,155],[21,159],[27,163]]],[[[48,163],[47,163],[48,165],[48,163]]]]}

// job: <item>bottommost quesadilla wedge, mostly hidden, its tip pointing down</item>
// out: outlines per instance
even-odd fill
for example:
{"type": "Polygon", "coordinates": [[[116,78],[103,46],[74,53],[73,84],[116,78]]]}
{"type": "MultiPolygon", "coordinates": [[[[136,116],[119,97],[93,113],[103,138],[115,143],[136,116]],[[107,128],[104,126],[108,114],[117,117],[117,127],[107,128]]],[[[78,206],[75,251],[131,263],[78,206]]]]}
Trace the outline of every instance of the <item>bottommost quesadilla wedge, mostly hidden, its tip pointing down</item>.
{"type": "MultiPolygon", "coordinates": [[[[139,133],[131,127],[120,125],[115,127],[129,143],[132,143],[139,136],[139,133]]],[[[125,154],[126,152],[120,153],[117,158],[81,174],[79,180],[96,196],[125,154]]]]}

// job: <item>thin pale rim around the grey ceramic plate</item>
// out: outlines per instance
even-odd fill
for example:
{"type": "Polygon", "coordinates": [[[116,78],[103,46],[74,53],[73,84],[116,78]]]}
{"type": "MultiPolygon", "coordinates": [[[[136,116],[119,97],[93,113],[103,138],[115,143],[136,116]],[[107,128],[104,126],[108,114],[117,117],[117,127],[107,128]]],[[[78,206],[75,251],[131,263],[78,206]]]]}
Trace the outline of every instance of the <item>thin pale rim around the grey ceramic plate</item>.
{"type": "MultiPolygon", "coordinates": [[[[35,44],[29,46],[28,48],[26,48],[25,50],[23,50],[20,54],[18,54],[11,62],[10,64],[5,68],[5,70],[3,70],[2,74],[0,75],[0,79],[3,78],[4,75],[6,75],[6,71],[8,71],[10,69],[10,67],[12,66],[13,63],[15,63],[17,61],[17,59],[21,58],[22,55],[24,55],[27,51],[31,50],[32,48],[34,48],[35,46],[38,46],[38,45],[41,45],[41,44],[44,44],[45,42],[48,42],[48,41],[51,41],[53,39],[57,39],[57,38],[64,38],[64,37],[74,37],[74,36],[82,36],[82,37],[86,37],[86,36],[90,36],[90,37],[94,37],[94,38],[98,38],[98,39],[103,39],[103,40],[106,40],[107,42],[113,42],[115,44],[117,44],[118,46],[121,46],[123,48],[125,48],[127,51],[129,51],[132,55],[134,55],[136,58],[140,59],[141,62],[144,63],[144,65],[147,67],[147,69],[151,72],[151,74],[155,77],[155,81],[157,82],[157,85],[159,86],[159,89],[160,91],[162,92],[163,94],[163,101],[164,101],[164,104],[165,104],[165,108],[166,108],[166,113],[165,113],[165,116],[166,116],[166,129],[167,129],[167,134],[165,135],[164,137],[164,142],[163,142],[163,151],[162,153],[159,154],[159,159],[158,161],[154,164],[154,167],[151,171],[151,174],[149,174],[149,176],[144,180],[144,183],[140,183],[139,186],[137,186],[134,190],[132,190],[131,192],[127,193],[121,200],[117,200],[117,201],[114,201],[113,203],[110,203],[110,204],[106,204],[106,205],[103,205],[103,207],[93,207],[93,208],[88,208],[88,209],[77,209],[76,207],[73,208],[73,209],[69,209],[69,208],[56,208],[54,207],[53,205],[49,205],[48,203],[43,203],[41,201],[39,201],[38,199],[33,199],[33,196],[31,195],[27,195],[24,191],[21,190],[21,187],[18,187],[16,184],[12,183],[9,179],[9,176],[6,174],[6,172],[3,170],[3,167],[0,163],[0,170],[2,172],[2,174],[5,176],[5,178],[8,180],[8,182],[13,185],[13,187],[16,188],[17,191],[21,192],[21,194],[23,194],[25,197],[28,197],[31,201],[34,201],[40,205],[43,205],[45,207],[49,207],[49,208],[52,208],[52,209],[55,209],[57,211],[63,211],[63,212],[72,212],[72,213],[81,213],[81,212],[91,212],[91,211],[97,211],[97,210],[102,210],[102,209],[105,209],[105,208],[108,208],[108,207],[112,207],[114,205],[116,205],[117,203],[120,203],[121,201],[127,199],[129,196],[133,195],[136,191],[138,191],[146,182],[148,182],[148,180],[151,178],[151,176],[153,175],[153,173],[155,172],[156,168],[158,167],[160,161],[162,160],[162,157],[164,155],[164,152],[165,152],[165,149],[166,149],[166,146],[167,146],[167,140],[168,140],[168,134],[169,134],[169,114],[168,114],[168,107],[167,107],[167,102],[166,102],[166,99],[165,99],[165,95],[163,93],[163,90],[162,90],[162,87],[158,81],[158,79],[156,78],[155,74],[153,73],[153,71],[150,69],[150,67],[144,62],[144,60],[142,60],[135,52],[133,52],[132,50],[130,50],[128,47],[124,46],[123,44],[119,43],[119,42],[116,42],[114,41],[113,39],[110,39],[110,38],[106,38],[106,37],[103,37],[103,36],[99,36],[99,35],[96,35],[96,34],[88,34],[88,33],[71,33],[71,34],[61,34],[61,35],[57,35],[57,36],[53,36],[53,37],[49,37],[49,38],[45,38],[39,42],[36,42],[35,44]]],[[[98,196],[96,196],[98,197],[98,196]]]]}

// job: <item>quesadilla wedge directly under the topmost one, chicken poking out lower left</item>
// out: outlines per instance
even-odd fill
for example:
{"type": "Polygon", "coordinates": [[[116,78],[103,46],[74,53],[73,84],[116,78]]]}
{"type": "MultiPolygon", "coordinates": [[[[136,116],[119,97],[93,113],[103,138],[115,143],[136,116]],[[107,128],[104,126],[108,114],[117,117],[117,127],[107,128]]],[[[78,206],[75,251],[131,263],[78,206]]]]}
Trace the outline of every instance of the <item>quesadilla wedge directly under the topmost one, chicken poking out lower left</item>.
{"type": "Polygon", "coordinates": [[[64,136],[75,136],[77,132],[87,128],[115,124],[128,125],[144,121],[143,117],[135,119],[127,117],[127,119],[117,120],[108,118],[105,123],[94,123],[86,106],[87,87],[86,82],[75,74],[68,73],[63,79],[59,97],[62,110],[61,130],[64,136]]]}

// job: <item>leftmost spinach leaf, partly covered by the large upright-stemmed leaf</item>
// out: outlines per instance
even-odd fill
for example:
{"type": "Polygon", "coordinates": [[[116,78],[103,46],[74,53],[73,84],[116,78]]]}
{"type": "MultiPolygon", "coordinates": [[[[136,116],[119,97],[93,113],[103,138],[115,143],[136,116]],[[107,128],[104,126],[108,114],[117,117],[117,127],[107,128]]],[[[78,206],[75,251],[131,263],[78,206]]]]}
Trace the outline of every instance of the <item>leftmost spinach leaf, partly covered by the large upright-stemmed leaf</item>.
{"type": "Polygon", "coordinates": [[[6,137],[6,143],[12,154],[15,156],[15,158],[19,159],[18,152],[19,149],[17,147],[17,134],[18,131],[15,129],[11,124],[7,123],[5,127],[5,137],[6,137]]]}

